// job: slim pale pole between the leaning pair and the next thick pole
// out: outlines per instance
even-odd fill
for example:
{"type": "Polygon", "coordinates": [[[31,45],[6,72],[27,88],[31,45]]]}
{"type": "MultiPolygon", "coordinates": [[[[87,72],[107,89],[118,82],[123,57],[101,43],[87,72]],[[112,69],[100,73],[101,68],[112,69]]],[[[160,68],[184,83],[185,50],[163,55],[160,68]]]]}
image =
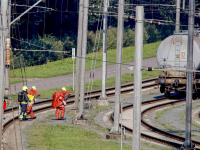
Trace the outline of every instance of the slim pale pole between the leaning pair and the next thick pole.
{"type": "Polygon", "coordinates": [[[106,100],[106,74],[107,74],[107,20],[108,20],[108,0],[104,0],[103,16],[103,55],[102,55],[102,91],[100,99],[106,100]]]}

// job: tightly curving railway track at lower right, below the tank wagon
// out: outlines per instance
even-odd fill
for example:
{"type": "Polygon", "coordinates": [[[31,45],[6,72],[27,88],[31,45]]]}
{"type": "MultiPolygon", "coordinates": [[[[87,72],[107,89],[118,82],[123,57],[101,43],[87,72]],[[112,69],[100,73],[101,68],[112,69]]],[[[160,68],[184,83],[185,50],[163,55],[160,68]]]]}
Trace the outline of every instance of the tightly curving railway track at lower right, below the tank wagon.
{"type": "MultiPolygon", "coordinates": [[[[182,146],[183,142],[185,141],[184,137],[163,131],[159,128],[152,126],[151,124],[149,124],[145,121],[144,116],[145,116],[145,114],[148,114],[150,111],[158,110],[158,109],[161,109],[164,107],[171,107],[171,106],[174,106],[177,104],[182,104],[182,103],[185,103],[185,99],[179,99],[179,100],[172,101],[172,100],[169,100],[168,98],[160,98],[160,99],[156,99],[156,100],[149,100],[149,101],[142,102],[142,106],[145,106],[145,105],[153,105],[153,106],[150,106],[150,107],[142,110],[141,125],[155,134],[159,134],[166,138],[173,139],[174,141],[156,138],[156,136],[155,137],[149,136],[148,134],[143,133],[143,132],[141,132],[141,138],[147,139],[149,141],[153,141],[156,143],[160,143],[163,145],[180,148],[182,146]]],[[[133,105],[127,105],[127,106],[123,107],[124,111],[129,110],[129,109],[133,109],[133,105]]],[[[113,115],[110,116],[110,120],[113,122],[113,115]]],[[[120,124],[120,126],[121,126],[121,124],[120,124]]],[[[123,127],[126,129],[127,132],[132,134],[132,132],[133,132],[132,128],[127,127],[125,125],[123,125],[123,127]]],[[[192,143],[195,144],[195,146],[197,147],[196,149],[200,149],[200,141],[192,140],[192,143]]]]}

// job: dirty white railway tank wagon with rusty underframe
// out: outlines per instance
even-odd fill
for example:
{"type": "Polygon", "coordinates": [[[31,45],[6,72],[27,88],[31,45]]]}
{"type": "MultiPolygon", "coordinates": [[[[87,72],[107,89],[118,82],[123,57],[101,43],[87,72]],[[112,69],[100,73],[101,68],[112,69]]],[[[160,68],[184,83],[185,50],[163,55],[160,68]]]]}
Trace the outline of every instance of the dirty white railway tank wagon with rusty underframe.
{"type": "MultiPolygon", "coordinates": [[[[200,30],[194,31],[193,39],[193,69],[200,70],[200,30]]],[[[159,68],[169,69],[159,73],[160,92],[170,96],[172,91],[185,91],[186,72],[170,71],[187,68],[188,31],[180,31],[167,37],[161,42],[157,51],[159,68]]],[[[193,73],[193,93],[200,89],[200,75],[193,73]]]]}

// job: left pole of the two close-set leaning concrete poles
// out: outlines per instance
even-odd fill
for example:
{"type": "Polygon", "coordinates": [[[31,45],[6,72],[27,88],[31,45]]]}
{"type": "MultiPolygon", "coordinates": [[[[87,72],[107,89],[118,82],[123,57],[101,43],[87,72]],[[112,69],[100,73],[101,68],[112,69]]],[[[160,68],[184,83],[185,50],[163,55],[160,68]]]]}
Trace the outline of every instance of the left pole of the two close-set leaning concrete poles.
{"type": "Polygon", "coordinates": [[[79,18],[78,18],[78,42],[77,42],[77,57],[76,57],[76,87],[75,87],[74,109],[78,109],[78,101],[79,101],[82,34],[83,34],[83,0],[80,0],[79,1],[79,18]]]}

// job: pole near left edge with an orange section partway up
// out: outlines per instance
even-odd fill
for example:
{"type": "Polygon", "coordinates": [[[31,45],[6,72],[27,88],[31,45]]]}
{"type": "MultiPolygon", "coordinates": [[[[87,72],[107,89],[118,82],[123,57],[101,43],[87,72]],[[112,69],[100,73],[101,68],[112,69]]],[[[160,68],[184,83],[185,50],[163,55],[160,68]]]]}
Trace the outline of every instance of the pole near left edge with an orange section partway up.
{"type": "Polygon", "coordinates": [[[6,97],[9,96],[9,74],[10,74],[10,47],[11,47],[11,41],[10,41],[10,17],[11,17],[11,1],[9,0],[6,6],[6,14],[3,15],[3,22],[6,26],[5,31],[5,37],[6,37],[6,67],[5,67],[5,95],[6,97]]]}

